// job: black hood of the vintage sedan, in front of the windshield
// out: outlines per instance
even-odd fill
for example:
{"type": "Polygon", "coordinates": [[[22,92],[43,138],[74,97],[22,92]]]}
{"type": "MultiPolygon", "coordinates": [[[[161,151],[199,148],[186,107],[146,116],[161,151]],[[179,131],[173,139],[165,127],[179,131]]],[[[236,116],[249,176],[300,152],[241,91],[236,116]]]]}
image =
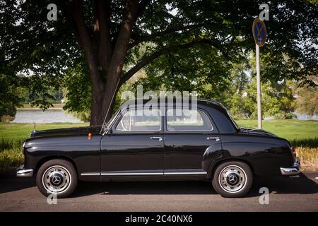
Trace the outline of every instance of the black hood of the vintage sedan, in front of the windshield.
{"type": "Polygon", "coordinates": [[[100,133],[100,129],[101,126],[83,126],[64,129],[34,130],[31,133],[31,138],[44,136],[87,135],[88,133],[96,135],[100,133]]]}

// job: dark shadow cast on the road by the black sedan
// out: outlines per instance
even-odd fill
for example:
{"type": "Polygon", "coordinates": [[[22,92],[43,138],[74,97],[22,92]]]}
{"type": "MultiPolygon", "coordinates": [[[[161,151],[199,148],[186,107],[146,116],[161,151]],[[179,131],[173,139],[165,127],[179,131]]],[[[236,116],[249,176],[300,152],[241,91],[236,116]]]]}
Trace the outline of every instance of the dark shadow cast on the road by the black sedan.
{"type": "MultiPolygon", "coordinates": [[[[259,189],[266,187],[276,194],[317,194],[318,185],[300,174],[298,178],[256,178],[251,191],[245,197],[260,196],[259,189]]],[[[210,182],[81,182],[73,197],[131,194],[216,194],[210,182]]]]}

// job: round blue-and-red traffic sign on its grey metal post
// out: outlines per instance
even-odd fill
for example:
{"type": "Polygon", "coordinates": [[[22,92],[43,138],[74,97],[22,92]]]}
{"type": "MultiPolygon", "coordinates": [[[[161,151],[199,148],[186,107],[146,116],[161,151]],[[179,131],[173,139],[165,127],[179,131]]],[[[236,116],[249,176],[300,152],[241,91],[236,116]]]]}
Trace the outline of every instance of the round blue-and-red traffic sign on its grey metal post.
{"type": "Polygon", "coordinates": [[[259,65],[259,47],[266,41],[266,26],[263,20],[256,18],[253,22],[253,37],[256,43],[256,71],[257,71],[257,124],[261,129],[261,73],[259,65]]]}

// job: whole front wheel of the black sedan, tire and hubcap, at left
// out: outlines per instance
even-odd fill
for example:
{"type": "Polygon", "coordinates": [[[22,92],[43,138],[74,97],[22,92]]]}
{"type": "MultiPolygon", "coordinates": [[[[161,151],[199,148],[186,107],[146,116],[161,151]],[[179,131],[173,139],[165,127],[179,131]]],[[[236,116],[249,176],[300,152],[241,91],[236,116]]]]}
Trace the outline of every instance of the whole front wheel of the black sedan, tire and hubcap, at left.
{"type": "Polygon", "coordinates": [[[37,171],[36,183],[37,188],[45,196],[56,194],[57,198],[66,198],[76,189],[78,183],[77,172],[69,161],[49,160],[37,171]],[[54,183],[57,186],[54,186],[54,183]]]}

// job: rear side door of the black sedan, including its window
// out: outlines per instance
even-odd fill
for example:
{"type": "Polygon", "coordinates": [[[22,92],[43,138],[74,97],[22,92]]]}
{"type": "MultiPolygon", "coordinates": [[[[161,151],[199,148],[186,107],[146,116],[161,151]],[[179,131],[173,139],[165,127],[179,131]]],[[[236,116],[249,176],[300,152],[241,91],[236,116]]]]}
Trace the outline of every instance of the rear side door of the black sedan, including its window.
{"type": "Polygon", "coordinates": [[[187,111],[186,114],[182,109],[167,109],[165,175],[206,174],[204,158],[222,153],[220,134],[208,113],[203,109],[187,111]]]}

